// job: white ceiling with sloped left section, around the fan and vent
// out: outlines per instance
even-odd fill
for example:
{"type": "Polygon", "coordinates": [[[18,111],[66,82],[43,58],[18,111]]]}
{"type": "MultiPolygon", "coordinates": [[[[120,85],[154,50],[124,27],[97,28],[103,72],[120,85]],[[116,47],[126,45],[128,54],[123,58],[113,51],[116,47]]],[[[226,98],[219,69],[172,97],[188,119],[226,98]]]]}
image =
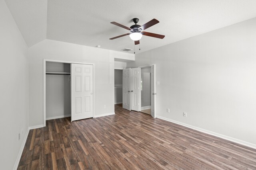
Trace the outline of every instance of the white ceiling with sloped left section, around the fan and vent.
{"type": "MultiPolygon", "coordinates": [[[[256,17],[256,0],[5,0],[26,43],[44,39],[120,51],[134,49],[129,33],[111,24],[130,27],[156,18],[160,23],[147,32],[164,39],[143,36],[136,53],[167,45],[214,29],[256,17]]],[[[133,53],[134,51],[124,52],[133,53]]]]}

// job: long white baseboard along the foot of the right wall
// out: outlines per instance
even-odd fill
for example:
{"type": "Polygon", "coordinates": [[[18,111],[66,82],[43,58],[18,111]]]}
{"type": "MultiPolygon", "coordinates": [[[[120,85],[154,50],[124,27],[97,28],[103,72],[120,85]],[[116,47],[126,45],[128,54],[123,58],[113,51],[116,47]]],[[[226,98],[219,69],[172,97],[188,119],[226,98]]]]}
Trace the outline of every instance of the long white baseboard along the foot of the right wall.
{"type": "Polygon", "coordinates": [[[255,144],[252,144],[252,143],[248,143],[246,141],[241,141],[239,139],[235,139],[235,138],[232,138],[232,137],[228,137],[226,135],[221,135],[219,133],[215,133],[215,132],[212,132],[212,131],[208,131],[208,130],[205,130],[205,129],[201,129],[199,127],[194,127],[194,126],[191,126],[191,125],[188,125],[188,124],[185,124],[185,123],[181,123],[181,122],[178,122],[178,121],[175,121],[175,120],[172,120],[172,119],[168,119],[168,118],[165,118],[165,117],[161,117],[161,116],[156,116],[157,118],[159,119],[163,119],[163,120],[166,120],[166,121],[170,121],[172,123],[176,123],[178,125],[182,125],[182,126],[185,126],[185,127],[188,127],[188,128],[191,128],[191,129],[194,129],[194,130],[197,130],[197,131],[200,131],[200,132],[203,132],[203,133],[207,133],[207,134],[210,134],[210,135],[213,135],[213,136],[216,136],[216,137],[220,137],[222,139],[226,139],[228,141],[232,141],[234,143],[238,143],[238,144],[241,144],[241,145],[245,145],[247,147],[251,147],[253,149],[256,149],[256,145],[255,144]]]}

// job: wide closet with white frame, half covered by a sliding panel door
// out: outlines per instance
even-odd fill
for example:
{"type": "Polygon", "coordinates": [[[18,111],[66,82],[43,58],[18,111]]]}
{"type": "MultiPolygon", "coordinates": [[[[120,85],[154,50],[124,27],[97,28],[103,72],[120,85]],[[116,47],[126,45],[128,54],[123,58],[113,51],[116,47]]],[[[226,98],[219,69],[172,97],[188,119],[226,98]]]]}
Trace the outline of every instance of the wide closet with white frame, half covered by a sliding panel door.
{"type": "Polygon", "coordinates": [[[43,127],[46,120],[94,117],[93,63],[43,59],[43,127]]]}

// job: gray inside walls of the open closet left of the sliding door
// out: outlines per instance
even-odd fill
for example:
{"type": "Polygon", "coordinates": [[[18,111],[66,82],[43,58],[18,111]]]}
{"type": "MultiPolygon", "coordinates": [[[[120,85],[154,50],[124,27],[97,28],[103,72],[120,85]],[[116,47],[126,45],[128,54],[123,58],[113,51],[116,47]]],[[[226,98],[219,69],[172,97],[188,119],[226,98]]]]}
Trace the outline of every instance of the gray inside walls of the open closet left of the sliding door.
{"type": "Polygon", "coordinates": [[[70,73],[70,64],[46,62],[46,120],[68,117],[71,115],[70,74],[48,72],[70,73]]]}

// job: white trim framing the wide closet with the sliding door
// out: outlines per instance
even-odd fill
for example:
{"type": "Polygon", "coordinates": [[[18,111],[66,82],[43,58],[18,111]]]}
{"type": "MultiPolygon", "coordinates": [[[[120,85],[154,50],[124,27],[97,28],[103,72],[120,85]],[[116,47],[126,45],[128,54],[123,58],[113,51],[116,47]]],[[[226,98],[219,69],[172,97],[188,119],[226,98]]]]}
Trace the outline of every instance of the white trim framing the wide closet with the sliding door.
{"type": "MultiPolygon", "coordinates": [[[[90,64],[93,66],[93,95],[95,94],[95,64],[94,63],[82,63],[75,61],[62,61],[62,60],[51,60],[43,59],[43,123],[46,126],[46,62],[56,62],[56,63],[74,63],[74,64],[90,64]]],[[[71,105],[71,104],[70,104],[71,105]]],[[[95,111],[95,96],[93,96],[93,117],[95,111]]]]}

